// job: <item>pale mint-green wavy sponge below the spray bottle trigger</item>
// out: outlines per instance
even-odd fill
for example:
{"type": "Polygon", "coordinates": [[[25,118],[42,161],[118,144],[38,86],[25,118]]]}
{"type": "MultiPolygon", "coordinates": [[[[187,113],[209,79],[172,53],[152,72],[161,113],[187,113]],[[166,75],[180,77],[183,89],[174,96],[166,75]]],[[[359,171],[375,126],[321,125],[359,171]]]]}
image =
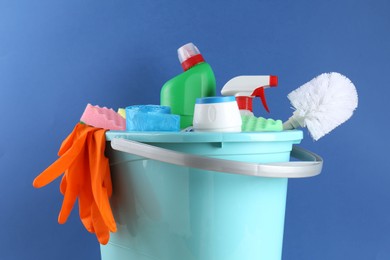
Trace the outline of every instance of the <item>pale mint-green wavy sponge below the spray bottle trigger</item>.
{"type": "Polygon", "coordinates": [[[243,115],[242,132],[283,131],[282,120],[243,115]]]}

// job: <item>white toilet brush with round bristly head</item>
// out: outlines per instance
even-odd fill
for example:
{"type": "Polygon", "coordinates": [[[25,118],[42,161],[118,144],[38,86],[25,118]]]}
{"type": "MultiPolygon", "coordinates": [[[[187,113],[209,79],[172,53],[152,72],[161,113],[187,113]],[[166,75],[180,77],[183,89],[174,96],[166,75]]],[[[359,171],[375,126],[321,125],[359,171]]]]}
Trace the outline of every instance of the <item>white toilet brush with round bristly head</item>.
{"type": "Polygon", "coordinates": [[[318,140],[347,121],[358,104],[353,83],[340,73],[323,73],[288,94],[293,115],[284,130],[307,127],[318,140]]]}

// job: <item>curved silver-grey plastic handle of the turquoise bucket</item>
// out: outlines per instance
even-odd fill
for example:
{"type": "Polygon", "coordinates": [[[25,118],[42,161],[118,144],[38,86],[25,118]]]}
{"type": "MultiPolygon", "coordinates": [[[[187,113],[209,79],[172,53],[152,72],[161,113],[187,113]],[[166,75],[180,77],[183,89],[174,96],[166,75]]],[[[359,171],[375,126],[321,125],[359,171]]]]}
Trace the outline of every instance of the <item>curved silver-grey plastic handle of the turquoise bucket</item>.
{"type": "Polygon", "coordinates": [[[323,164],[323,160],[319,155],[296,145],[291,150],[291,157],[301,161],[277,163],[253,163],[210,158],[181,153],[123,138],[113,138],[111,140],[111,147],[117,151],[174,165],[259,177],[312,177],[321,173],[323,164]]]}

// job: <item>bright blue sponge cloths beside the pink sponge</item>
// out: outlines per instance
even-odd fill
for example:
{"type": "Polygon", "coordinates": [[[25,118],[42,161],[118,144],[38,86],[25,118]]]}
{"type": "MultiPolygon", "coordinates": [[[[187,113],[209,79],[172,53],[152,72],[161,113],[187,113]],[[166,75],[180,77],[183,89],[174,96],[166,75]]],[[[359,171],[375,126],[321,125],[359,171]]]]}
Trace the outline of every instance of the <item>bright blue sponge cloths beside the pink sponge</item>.
{"type": "Polygon", "coordinates": [[[127,131],[180,131],[180,117],[170,107],[136,105],[126,108],[127,131]]]}

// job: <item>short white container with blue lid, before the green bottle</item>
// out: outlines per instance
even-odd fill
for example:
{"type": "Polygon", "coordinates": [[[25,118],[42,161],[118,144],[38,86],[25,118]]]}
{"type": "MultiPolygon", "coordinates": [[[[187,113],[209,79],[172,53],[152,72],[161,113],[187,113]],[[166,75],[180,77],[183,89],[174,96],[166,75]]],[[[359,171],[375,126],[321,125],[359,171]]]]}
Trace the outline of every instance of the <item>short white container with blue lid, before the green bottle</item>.
{"type": "Polygon", "coordinates": [[[241,116],[234,96],[197,98],[194,130],[197,132],[241,132],[241,116]]]}

